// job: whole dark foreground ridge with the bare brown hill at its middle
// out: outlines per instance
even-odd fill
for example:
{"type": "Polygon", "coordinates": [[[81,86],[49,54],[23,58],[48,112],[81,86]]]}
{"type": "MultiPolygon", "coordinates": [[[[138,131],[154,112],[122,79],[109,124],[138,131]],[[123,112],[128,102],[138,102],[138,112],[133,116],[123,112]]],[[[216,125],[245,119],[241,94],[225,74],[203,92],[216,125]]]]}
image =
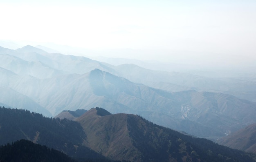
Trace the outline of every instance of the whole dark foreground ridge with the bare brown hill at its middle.
{"type": "Polygon", "coordinates": [[[243,151],[184,135],[138,115],[111,114],[102,108],[90,109],[77,122],[2,107],[0,115],[1,145],[26,139],[77,160],[255,162],[243,151]]]}

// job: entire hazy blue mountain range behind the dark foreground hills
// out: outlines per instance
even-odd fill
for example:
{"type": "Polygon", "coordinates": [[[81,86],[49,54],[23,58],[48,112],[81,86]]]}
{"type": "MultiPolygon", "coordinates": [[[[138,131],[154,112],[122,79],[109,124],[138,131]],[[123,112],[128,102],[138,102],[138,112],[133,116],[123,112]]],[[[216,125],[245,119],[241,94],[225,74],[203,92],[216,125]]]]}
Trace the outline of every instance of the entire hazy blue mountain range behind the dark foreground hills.
{"type": "Polygon", "coordinates": [[[63,110],[104,107],[212,140],[256,122],[255,102],[219,92],[249,94],[250,89],[253,94],[256,82],[252,78],[231,84],[228,79],[152,71],[131,64],[112,66],[31,46],[0,48],[0,63],[0,103],[49,117],[63,110]],[[234,87],[239,91],[233,91],[234,87]]]}

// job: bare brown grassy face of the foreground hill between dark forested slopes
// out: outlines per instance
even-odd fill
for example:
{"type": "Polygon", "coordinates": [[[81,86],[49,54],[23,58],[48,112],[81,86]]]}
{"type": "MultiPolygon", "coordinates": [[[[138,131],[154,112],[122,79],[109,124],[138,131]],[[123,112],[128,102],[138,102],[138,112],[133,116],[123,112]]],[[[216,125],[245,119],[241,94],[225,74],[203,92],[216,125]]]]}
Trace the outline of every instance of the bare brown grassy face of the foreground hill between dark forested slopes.
{"type": "Polygon", "coordinates": [[[127,118],[122,113],[99,116],[96,109],[90,109],[75,120],[85,130],[91,149],[111,159],[136,161],[138,151],[129,137],[127,118]]]}

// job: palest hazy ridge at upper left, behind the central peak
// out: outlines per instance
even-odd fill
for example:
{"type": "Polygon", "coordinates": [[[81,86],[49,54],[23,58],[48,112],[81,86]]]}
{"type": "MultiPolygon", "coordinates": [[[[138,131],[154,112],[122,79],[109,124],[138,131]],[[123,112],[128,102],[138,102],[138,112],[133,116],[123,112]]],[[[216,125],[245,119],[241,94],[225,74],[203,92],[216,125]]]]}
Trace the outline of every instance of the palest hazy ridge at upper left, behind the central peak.
{"type": "Polygon", "coordinates": [[[73,73],[83,74],[96,68],[116,73],[115,70],[112,69],[113,66],[110,64],[85,57],[63,55],[60,53],[47,53],[42,49],[29,45],[16,50],[9,50],[1,47],[0,54],[3,57],[0,59],[2,60],[2,62],[0,62],[2,63],[0,67],[11,69],[11,71],[20,75],[29,74],[37,78],[50,78],[49,74],[52,74],[51,76],[73,73]],[[7,58],[7,56],[12,56],[13,58],[7,58]],[[35,66],[33,64],[36,64],[37,66],[31,68],[31,66],[35,66]],[[45,71],[42,71],[41,69],[44,69],[45,71]],[[30,74],[31,70],[41,71],[30,74]],[[46,75],[47,73],[49,73],[48,76],[46,75]]]}

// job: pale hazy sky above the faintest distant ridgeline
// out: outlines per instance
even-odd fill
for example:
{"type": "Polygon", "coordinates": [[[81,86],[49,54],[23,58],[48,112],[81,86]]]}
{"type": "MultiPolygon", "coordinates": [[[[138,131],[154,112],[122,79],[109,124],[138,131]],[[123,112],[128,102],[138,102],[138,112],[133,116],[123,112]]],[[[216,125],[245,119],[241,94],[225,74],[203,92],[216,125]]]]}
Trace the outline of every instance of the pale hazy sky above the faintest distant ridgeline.
{"type": "Polygon", "coordinates": [[[1,0],[0,40],[256,55],[256,0],[1,0]]]}

